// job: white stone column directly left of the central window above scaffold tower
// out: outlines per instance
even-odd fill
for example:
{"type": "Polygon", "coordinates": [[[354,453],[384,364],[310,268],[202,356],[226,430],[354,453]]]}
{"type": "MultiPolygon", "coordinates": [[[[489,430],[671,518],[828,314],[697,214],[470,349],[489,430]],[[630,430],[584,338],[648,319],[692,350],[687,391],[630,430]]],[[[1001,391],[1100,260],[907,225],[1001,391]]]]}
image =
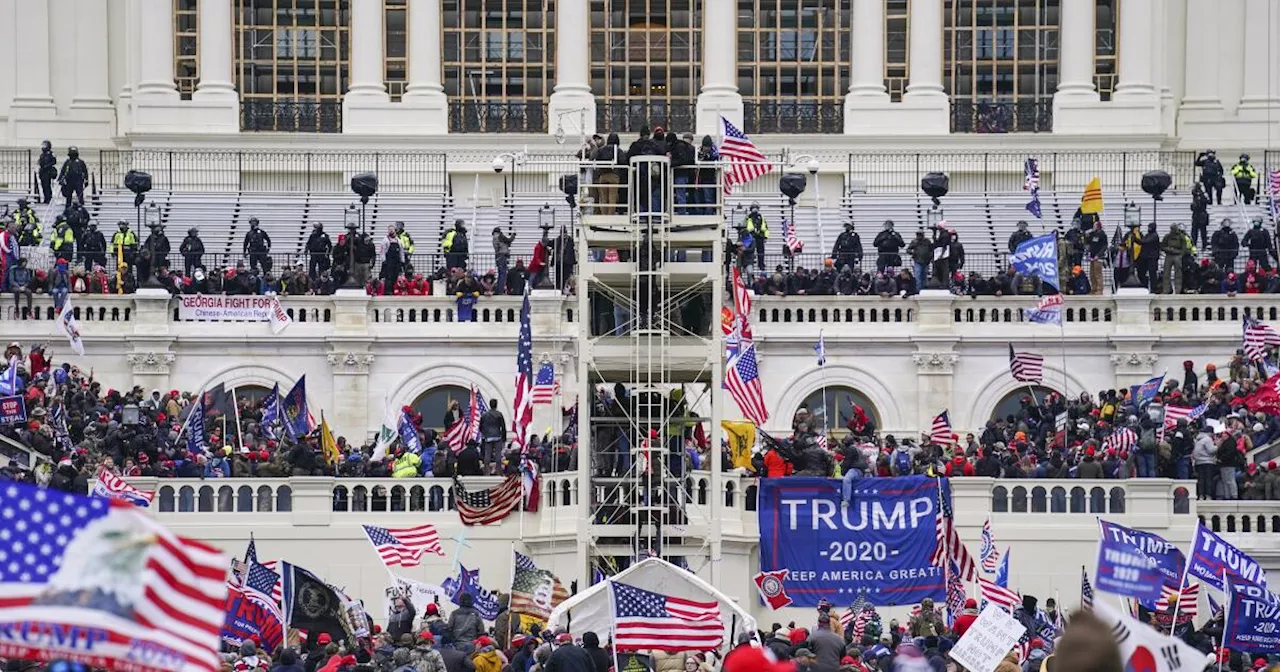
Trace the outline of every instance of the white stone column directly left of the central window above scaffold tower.
{"type": "Polygon", "coordinates": [[[568,136],[581,119],[584,136],[595,133],[595,96],[591,93],[591,10],[588,0],[556,4],[556,90],[547,105],[547,132],[557,124],[568,136]]]}

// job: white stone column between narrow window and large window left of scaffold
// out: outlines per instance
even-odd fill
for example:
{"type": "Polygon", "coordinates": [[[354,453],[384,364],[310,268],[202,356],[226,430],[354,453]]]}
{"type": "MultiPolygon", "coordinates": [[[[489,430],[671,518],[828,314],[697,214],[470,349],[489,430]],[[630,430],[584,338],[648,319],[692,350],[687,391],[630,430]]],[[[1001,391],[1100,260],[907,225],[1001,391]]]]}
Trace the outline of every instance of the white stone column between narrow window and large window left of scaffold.
{"type": "Polygon", "coordinates": [[[440,0],[408,5],[408,86],[402,105],[413,108],[426,133],[448,133],[449,101],[440,83],[440,0]]]}

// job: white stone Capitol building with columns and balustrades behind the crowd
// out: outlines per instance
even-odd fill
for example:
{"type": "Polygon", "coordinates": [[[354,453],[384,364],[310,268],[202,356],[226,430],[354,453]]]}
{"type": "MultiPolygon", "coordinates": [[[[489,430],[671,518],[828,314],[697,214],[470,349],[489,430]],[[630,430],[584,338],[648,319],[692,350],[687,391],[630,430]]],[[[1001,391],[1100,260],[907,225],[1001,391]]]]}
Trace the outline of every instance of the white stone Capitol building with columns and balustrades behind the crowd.
{"type": "MultiPolygon", "coordinates": [[[[516,549],[585,590],[596,568],[659,556],[765,626],[810,618],[756,593],[754,476],[712,449],[684,474],[658,466],[666,486],[649,488],[650,474],[616,463],[649,448],[622,448],[631,454],[608,466],[585,448],[605,429],[666,438],[694,424],[716,447],[723,421],[744,420],[722,388],[717,323],[733,306],[726,241],[753,206],[772,230],[759,261],[769,275],[822,269],[849,224],[874,274],[884,220],[906,239],[945,220],[964,271],[995,276],[1019,220],[1037,236],[1071,227],[1094,178],[1108,234],[1130,220],[1187,228],[1197,159],[1216,150],[1228,166],[1251,156],[1260,197],[1244,202],[1228,184],[1210,230],[1230,219],[1243,234],[1257,218],[1276,230],[1266,177],[1280,169],[1277,0],[0,0],[0,15],[8,202],[38,195],[47,140],[59,164],[70,146],[86,161],[84,205],[101,229],[165,225],[174,268],[189,228],[206,264],[234,268],[250,218],[280,269],[307,262],[315,224],[334,241],[347,224],[376,241],[403,221],[426,274],[449,262],[456,220],[481,273],[498,265],[492,230],[515,233],[512,264],[556,242],[558,264],[530,296],[534,369],[550,365],[556,392],[530,430],[576,422],[584,449],[539,476],[536,512],[465,526],[447,477],[132,480],[156,490],[154,515],[177,532],[232,554],[252,532],[260,557],[305,566],[375,618],[388,575],[361,526],[424,524],[445,554],[396,572],[428,584],[462,564],[504,590],[516,549]],[[690,187],[663,156],[614,166],[616,182],[579,161],[595,134],[617,133],[625,150],[660,127],[698,146],[719,143],[726,123],[771,168],[731,189],[721,165],[708,168],[712,186],[690,187]],[[1028,211],[1028,159],[1041,218],[1028,211]],[[152,180],[140,209],[131,170],[152,180]],[[1143,178],[1157,172],[1170,183],[1153,200],[1143,178]],[[378,177],[365,204],[351,187],[362,173],[378,177]],[[948,178],[937,200],[920,187],[931,173],[948,178]],[[799,193],[783,191],[796,182],[799,193]],[[626,188],[652,188],[653,202],[628,204],[626,188]],[[783,220],[803,251],[783,255],[783,220]],[[618,388],[641,399],[637,415],[595,417],[593,399],[618,388]],[[663,401],[675,392],[689,411],[680,421],[663,401]]],[[[37,210],[52,221],[61,201],[37,210]]],[[[1061,325],[1024,319],[1036,296],[945,284],[905,298],[753,296],[760,429],[786,436],[801,407],[835,419],[856,404],[881,435],[919,438],[942,411],[960,436],[977,435],[1024,396],[1125,389],[1178,378],[1188,360],[1225,370],[1247,316],[1280,321],[1280,294],[1153,293],[1117,285],[1110,269],[1105,284],[1065,297],[1061,325]],[[1010,376],[1011,347],[1043,355],[1039,383],[1010,376]]],[[[480,297],[467,319],[443,279],[433,288],[282,296],[283,329],[200,319],[163,289],[73,294],[83,357],[65,347],[49,297],[24,319],[5,294],[0,335],[49,343],[55,362],[116,389],[221,384],[261,397],[306,376],[311,411],[357,445],[406,406],[444,430],[448,403],[465,404],[472,387],[509,420],[522,297],[480,297]]],[[[467,489],[499,480],[470,477],[467,489]]],[[[1280,570],[1280,502],[1197,500],[1194,481],[1169,479],[951,484],[960,536],[975,550],[989,520],[1014,548],[1011,584],[1068,607],[1080,568],[1094,566],[1100,517],[1183,547],[1203,521],[1280,570]]]]}

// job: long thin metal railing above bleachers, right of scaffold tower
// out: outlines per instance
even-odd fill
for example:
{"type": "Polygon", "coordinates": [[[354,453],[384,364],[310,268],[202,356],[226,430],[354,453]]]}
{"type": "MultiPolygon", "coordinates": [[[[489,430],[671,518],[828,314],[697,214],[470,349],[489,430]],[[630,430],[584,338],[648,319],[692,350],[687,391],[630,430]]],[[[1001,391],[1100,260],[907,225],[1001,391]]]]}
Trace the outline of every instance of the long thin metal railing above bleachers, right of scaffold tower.
{"type": "MultiPolygon", "coordinates": [[[[1190,151],[1064,151],[1064,152],[851,152],[849,178],[870,193],[918,193],[927,173],[946,173],[951,193],[1023,189],[1028,157],[1039,165],[1042,189],[1074,191],[1094,177],[1110,192],[1137,191],[1142,175],[1165,170],[1175,191],[1189,189],[1199,174],[1190,151]]],[[[1261,174],[1261,170],[1260,170],[1261,174]]]]}

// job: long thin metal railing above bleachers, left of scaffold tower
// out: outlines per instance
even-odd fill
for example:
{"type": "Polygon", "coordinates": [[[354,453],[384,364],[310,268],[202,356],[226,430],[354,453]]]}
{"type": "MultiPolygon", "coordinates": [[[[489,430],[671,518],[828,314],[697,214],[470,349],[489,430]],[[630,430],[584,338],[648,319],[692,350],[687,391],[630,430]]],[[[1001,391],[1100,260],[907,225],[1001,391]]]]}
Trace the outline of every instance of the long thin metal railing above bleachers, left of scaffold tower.
{"type": "Polygon", "coordinates": [[[444,152],[101,150],[99,184],[120,187],[129,170],[156,191],[347,192],[357,173],[378,174],[384,193],[448,193],[444,152]]]}

